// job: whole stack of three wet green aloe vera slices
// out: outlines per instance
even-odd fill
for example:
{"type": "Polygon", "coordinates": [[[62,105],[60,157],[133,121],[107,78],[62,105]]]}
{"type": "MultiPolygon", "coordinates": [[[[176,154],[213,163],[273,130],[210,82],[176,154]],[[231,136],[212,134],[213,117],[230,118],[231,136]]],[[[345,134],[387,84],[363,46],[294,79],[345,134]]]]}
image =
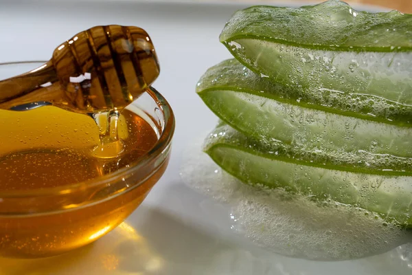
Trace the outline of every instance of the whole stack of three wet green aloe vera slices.
{"type": "Polygon", "coordinates": [[[220,41],[236,59],[196,89],[222,120],[204,148],[216,164],[412,228],[411,14],[253,6],[220,41]]]}

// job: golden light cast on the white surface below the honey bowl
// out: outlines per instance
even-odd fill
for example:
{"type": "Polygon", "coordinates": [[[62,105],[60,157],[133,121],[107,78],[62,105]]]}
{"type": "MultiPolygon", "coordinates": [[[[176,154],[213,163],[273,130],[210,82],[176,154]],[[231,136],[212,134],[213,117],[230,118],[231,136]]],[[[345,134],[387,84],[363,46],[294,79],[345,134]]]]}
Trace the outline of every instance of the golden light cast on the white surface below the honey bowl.
{"type": "Polygon", "coordinates": [[[95,243],[67,254],[30,260],[0,258],[0,274],[158,274],[164,263],[144,237],[124,222],[95,243]]]}

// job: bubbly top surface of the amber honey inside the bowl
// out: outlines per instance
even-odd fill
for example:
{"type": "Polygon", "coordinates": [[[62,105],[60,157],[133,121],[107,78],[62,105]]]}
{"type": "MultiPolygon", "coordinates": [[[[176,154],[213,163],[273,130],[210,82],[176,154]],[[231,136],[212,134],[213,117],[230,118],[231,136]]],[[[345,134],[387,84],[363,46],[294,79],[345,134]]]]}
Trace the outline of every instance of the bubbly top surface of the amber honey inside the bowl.
{"type": "Polygon", "coordinates": [[[25,112],[0,110],[0,117],[0,192],[100,177],[138,159],[158,140],[146,120],[125,109],[117,129],[125,151],[105,159],[93,155],[100,147],[99,131],[87,115],[47,106],[25,112]]]}

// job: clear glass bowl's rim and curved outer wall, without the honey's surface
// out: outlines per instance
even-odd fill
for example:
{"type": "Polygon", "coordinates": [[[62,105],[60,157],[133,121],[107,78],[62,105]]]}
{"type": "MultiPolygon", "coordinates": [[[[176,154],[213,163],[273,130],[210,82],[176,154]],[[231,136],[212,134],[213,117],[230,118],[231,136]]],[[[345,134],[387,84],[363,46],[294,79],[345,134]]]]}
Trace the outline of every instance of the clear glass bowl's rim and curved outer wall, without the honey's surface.
{"type": "MultiPolygon", "coordinates": [[[[42,64],[1,63],[0,80],[42,64]]],[[[158,136],[143,156],[89,181],[50,188],[0,190],[0,256],[37,258],[79,248],[113,230],[140,205],[168,166],[174,115],[165,98],[152,87],[128,110],[144,118],[158,136]]]]}

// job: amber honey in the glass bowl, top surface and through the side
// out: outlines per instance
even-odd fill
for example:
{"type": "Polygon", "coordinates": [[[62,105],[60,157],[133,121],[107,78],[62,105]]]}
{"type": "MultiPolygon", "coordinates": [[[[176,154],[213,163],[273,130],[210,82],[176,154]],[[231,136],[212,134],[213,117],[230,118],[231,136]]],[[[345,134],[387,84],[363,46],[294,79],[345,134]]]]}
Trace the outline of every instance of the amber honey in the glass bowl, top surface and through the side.
{"type": "MultiPolygon", "coordinates": [[[[0,118],[0,192],[70,186],[79,182],[87,186],[87,182],[96,177],[137,162],[158,140],[155,129],[127,109],[117,121],[124,151],[116,157],[111,155],[113,151],[108,152],[111,157],[107,158],[102,157],[104,152],[98,157],[93,153],[101,141],[98,126],[87,115],[41,107],[20,112],[0,110],[0,118]]],[[[78,207],[75,203],[45,197],[46,208],[47,203],[56,203],[69,210],[14,216],[0,211],[0,256],[50,256],[91,243],[139,206],[165,166],[166,162],[144,184],[100,203],[78,207]]],[[[95,194],[100,192],[96,190],[95,194]]],[[[104,193],[100,196],[104,197],[104,193]]],[[[73,198],[76,199],[81,203],[87,201],[87,198],[80,200],[78,195],[73,198]]],[[[41,207],[40,203],[38,208],[41,207]]],[[[27,210],[24,206],[21,208],[27,210]]]]}

